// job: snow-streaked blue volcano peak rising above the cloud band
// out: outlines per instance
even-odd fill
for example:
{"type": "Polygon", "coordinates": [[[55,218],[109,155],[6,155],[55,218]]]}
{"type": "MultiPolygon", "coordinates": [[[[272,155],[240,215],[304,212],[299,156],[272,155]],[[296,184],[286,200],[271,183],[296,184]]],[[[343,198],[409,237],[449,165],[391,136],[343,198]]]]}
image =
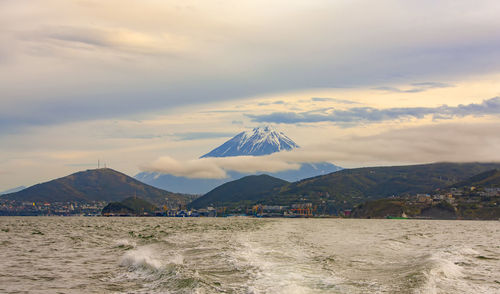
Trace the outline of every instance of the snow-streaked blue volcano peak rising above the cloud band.
{"type": "Polygon", "coordinates": [[[203,157],[229,157],[242,155],[267,155],[283,150],[298,148],[292,139],[270,126],[241,132],[231,140],[215,148],[203,157]]]}

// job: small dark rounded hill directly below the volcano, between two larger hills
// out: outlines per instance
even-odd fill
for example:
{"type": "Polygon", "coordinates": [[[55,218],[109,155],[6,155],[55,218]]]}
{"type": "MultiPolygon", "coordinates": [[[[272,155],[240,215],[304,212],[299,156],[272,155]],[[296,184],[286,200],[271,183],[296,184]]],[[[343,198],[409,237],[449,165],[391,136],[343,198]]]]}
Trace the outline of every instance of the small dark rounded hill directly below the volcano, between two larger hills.
{"type": "Polygon", "coordinates": [[[277,193],[287,181],[268,175],[247,176],[225,183],[189,204],[198,209],[207,206],[246,206],[277,193]]]}

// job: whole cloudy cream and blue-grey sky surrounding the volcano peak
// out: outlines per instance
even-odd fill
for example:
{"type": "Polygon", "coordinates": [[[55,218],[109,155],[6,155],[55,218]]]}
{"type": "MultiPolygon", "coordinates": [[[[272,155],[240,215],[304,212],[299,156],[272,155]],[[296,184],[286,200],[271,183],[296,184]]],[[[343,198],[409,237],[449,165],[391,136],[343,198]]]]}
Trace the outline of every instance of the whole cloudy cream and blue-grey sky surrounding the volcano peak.
{"type": "Polygon", "coordinates": [[[0,0],[0,191],[499,161],[498,1],[0,0]],[[271,125],[300,149],[199,160],[271,125]]]}

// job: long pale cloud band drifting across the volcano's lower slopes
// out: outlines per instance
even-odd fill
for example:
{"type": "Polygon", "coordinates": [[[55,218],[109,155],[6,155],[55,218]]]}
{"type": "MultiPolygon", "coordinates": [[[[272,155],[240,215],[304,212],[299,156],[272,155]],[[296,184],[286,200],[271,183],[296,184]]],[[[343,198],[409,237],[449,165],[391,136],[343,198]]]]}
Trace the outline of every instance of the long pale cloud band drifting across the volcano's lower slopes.
{"type": "Polygon", "coordinates": [[[143,171],[187,178],[223,179],[227,171],[272,173],[297,170],[303,163],[333,162],[343,167],[431,162],[500,162],[500,124],[449,123],[351,136],[328,144],[265,156],[176,160],[165,156],[143,171]],[[443,136],[446,133],[447,136],[443,136]],[[371,146],[367,149],[366,146],[371,146]]]}

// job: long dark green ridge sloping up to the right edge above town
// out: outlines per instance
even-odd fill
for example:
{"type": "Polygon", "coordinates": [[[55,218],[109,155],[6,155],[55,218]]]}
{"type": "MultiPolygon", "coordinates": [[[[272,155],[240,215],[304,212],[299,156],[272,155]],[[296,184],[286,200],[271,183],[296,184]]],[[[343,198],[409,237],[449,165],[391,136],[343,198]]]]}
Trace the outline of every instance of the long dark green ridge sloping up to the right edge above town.
{"type": "Polygon", "coordinates": [[[392,195],[431,192],[496,168],[500,168],[500,163],[434,163],[345,169],[292,183],[266,201],[284,205],[328,202],[336,208],[350,208],[367,200],[392,195]]]}

